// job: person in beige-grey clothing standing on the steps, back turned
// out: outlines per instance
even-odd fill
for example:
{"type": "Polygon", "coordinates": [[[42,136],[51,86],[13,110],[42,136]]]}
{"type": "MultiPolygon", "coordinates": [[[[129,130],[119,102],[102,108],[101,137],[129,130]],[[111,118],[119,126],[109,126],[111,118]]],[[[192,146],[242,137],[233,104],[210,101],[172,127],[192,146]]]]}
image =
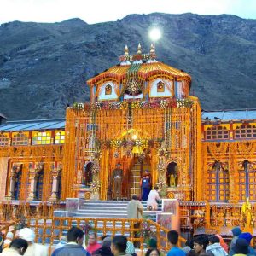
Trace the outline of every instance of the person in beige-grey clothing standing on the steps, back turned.
{"type": "MultiPolygon", "coordinates": [[[[143,218],[143,204],[139,201],[137,195],[132,195],[131,201],[127,205],[127,218],[143,218]]],[[[139,229],[140,223],[135,222],[134,226],[131,226],[131,229],[139,229]]],[[[134,237],[139,237],[139,231],[134,232],[134,237]]],[[[138,241],[134,242],[135,247],[139,247],[140,243],[138,241]]]]}

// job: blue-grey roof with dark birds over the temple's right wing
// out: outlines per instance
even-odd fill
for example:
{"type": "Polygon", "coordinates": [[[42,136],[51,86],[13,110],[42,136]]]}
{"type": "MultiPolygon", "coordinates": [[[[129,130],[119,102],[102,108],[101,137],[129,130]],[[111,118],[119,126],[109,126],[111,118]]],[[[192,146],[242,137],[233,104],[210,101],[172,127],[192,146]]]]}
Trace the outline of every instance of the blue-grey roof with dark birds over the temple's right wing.
{"type": "Polygon", "coordinates": [[[256,120],[256,109],[202,111],[203,121],[256,120]]]}

